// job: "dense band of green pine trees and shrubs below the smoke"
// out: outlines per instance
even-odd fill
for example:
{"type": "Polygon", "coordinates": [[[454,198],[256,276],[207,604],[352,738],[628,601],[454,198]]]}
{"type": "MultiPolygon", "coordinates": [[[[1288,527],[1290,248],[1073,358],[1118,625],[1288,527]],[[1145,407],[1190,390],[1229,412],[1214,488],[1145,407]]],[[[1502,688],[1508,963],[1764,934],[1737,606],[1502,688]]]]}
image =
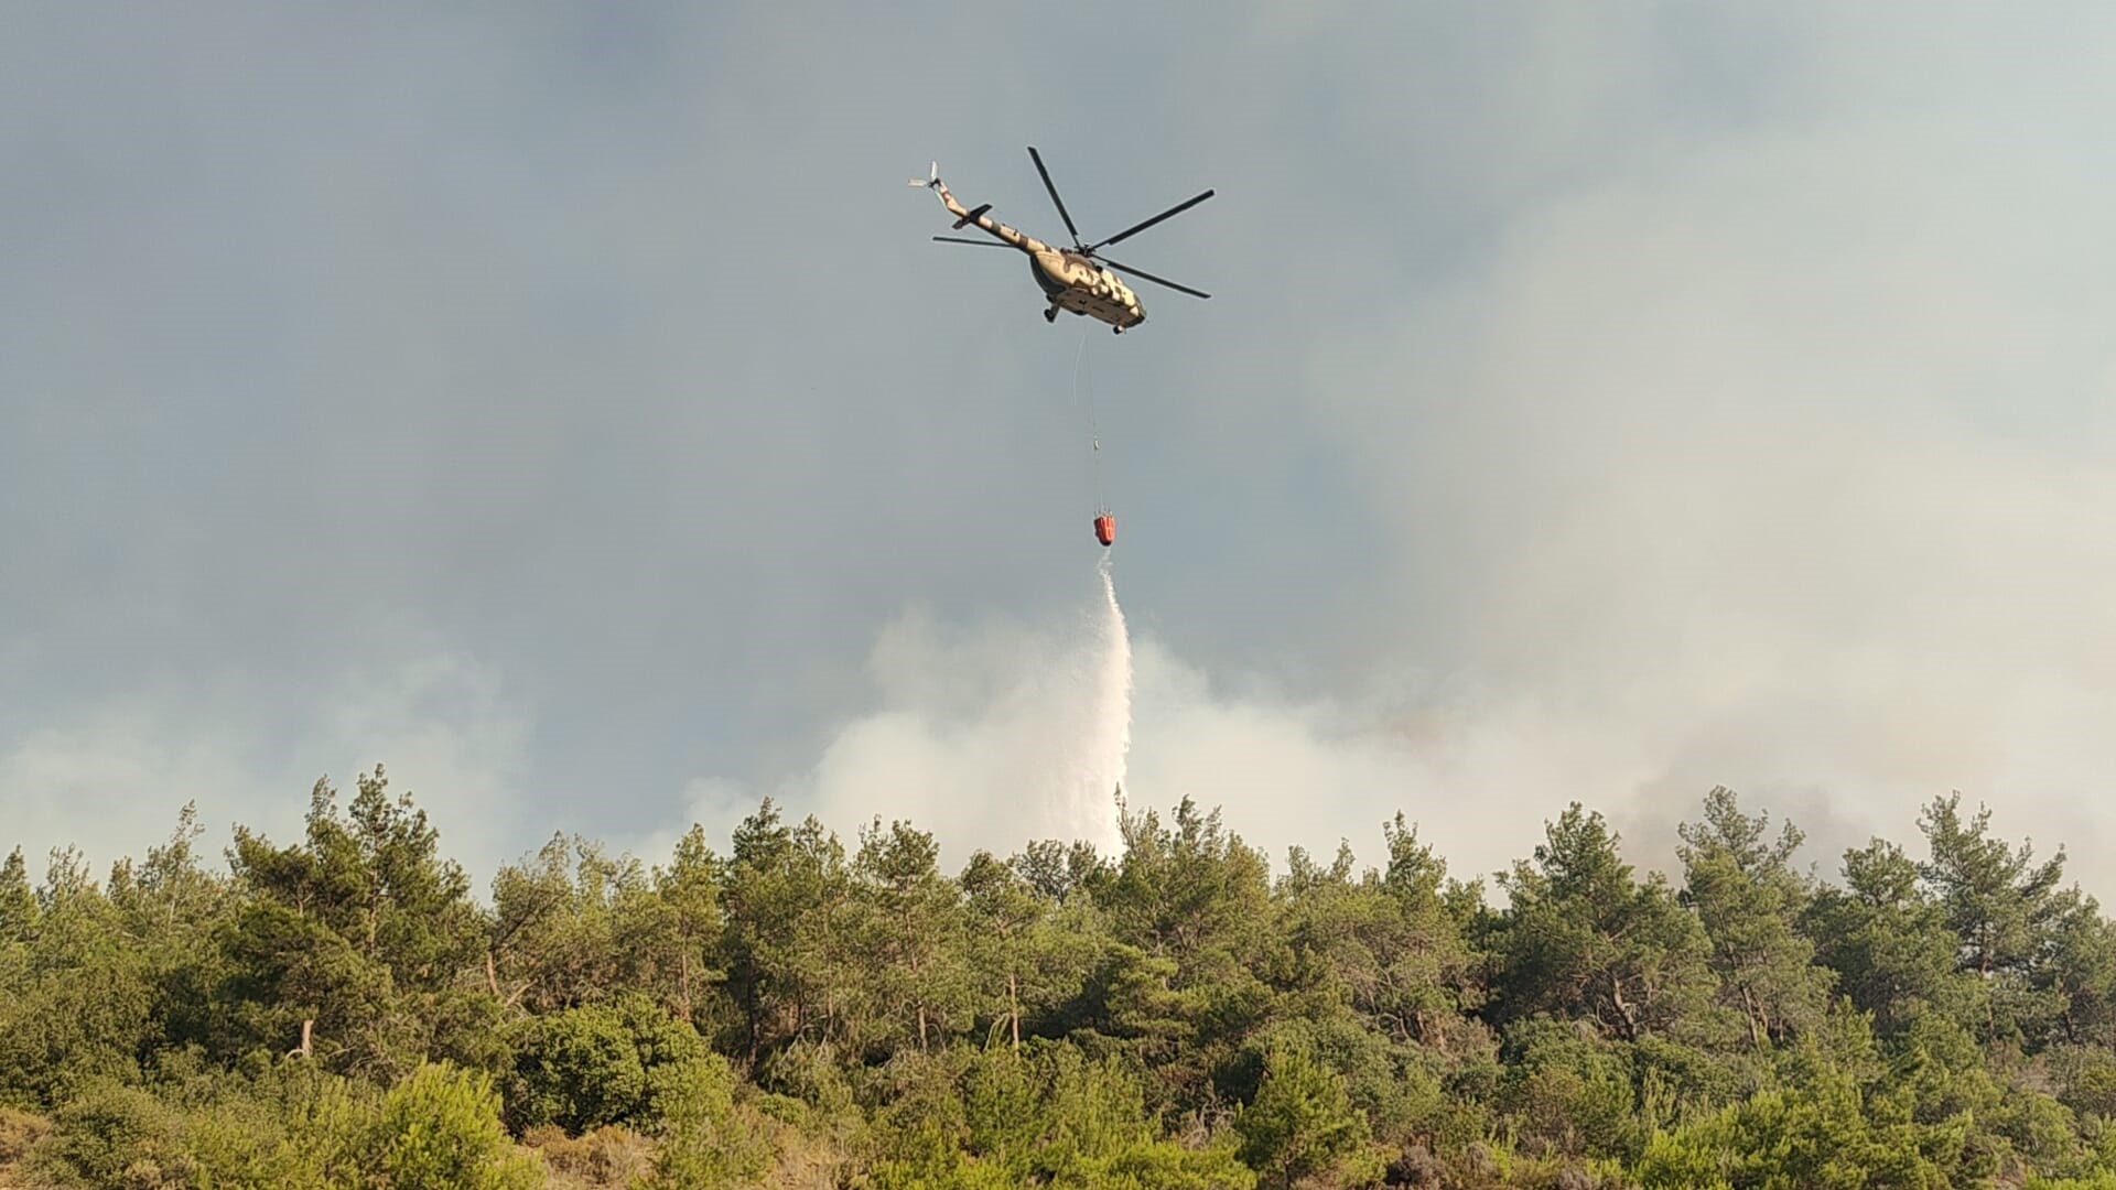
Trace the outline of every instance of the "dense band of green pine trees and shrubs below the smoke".
{"type": "Polygon", "coordinates": [[[2116,1188],[2116,930],[1959,796],[1830,879],[1727,790],[1485,891],[1189,800],[940,868],[764,803],[480,900],[408,796],[0,864],[0,1186],[2116,1188]]]}

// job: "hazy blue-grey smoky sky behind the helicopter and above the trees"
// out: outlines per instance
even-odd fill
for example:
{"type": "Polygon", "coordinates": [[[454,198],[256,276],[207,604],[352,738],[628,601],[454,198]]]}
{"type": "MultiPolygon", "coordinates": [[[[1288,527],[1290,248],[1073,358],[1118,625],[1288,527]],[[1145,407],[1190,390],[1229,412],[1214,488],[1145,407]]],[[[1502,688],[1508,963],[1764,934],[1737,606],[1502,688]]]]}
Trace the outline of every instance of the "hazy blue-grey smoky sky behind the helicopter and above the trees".
{"type": "Polygon", "coordinates": [[[1011,849],[1100,601],[1130,794],[1479,872],[1714,783],[1959,788],[2116,891],[2116,11],[15,4],[0,847],[298,830],[482,881],[770,792],[1011,849]]]}

